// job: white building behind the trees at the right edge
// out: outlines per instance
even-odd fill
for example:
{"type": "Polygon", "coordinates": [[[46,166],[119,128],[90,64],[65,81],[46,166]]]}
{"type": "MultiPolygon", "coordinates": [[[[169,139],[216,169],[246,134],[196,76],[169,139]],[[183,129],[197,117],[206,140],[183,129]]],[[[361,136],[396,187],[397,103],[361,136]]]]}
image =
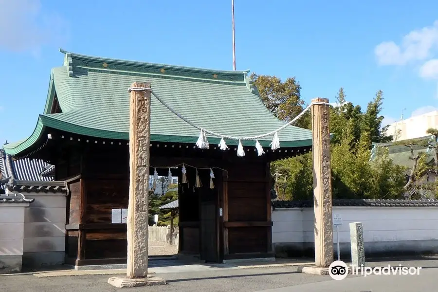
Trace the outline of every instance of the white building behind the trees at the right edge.
{"type": "Polygon", "coordinates": [[[438,110],[395,122],[389,125],[386,134],[392,135],[394,141],[417,139],[427,136],[428,128],[438,128],[438,110]]]}

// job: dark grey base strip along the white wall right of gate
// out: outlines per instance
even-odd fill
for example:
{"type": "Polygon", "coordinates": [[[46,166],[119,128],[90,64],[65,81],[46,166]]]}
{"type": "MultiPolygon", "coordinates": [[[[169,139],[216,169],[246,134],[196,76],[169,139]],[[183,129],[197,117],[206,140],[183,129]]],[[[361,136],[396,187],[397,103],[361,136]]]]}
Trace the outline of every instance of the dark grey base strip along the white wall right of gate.
{"type": "MultiPolygon", "coordinates": [[[[314,257],[313,242],[274,243],[275,257],[314,257]]],[[[349,242],[341,242],[341,260],[351,260],[349,242]]],[[[337,244],[333,244],[334,258],[337,258],[337,244]]],[[[383,242],[365,241],[366,257],[420,256],[438,254],[438,240],[400,240],[383,242]]]]}

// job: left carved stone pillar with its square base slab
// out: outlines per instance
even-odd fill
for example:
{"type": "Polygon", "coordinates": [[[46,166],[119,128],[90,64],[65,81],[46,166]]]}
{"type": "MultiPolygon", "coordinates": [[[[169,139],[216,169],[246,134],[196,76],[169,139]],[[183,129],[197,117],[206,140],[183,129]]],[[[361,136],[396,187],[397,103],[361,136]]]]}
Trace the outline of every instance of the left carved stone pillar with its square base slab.
{"type": "Polygon", "coordinates": [[[129,101],[129,203],[127,219],[127,277],[108,280],[118,288],[164,285],[164,279],[147,276],[150,84],[134,82],[129,101]]]}

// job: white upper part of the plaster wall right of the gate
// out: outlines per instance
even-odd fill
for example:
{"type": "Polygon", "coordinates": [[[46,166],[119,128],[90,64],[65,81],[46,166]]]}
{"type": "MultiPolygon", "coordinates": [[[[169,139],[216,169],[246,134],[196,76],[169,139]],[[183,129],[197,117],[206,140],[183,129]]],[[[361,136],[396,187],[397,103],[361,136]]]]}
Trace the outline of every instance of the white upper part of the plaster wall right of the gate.
{"type": "MultiPolygon", "coordinates": [[[[363,223],[365,242],[438,240],[437,207],[333,207],[335,214],[343,220],[340,242],[350,242],[350,222],[363,223]]],[[[312,208],[276,209],[272,219],[273,243],[314,242],[312,208]]]]}

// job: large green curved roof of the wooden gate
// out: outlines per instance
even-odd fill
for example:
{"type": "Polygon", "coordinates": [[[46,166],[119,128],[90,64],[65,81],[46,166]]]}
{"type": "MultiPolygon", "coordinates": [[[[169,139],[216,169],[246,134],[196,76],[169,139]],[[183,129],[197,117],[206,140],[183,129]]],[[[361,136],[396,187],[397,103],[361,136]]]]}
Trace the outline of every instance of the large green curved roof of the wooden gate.
{"type": "MultiPolygon", "coordinates": [[[[134,81],[151,88],[170,107],[202,128],[229,136],[256,136],[284,123],[266,109],[252,87],[248,71],[217,71],[65,54],[64,66],[52,69],[46,108],[34,133],[5,145],[22,153],[42,138],[44,128],[105,139],[129,139],[129,93],[134,81]],[[62,113],[50,113],[54,96],[62,113]]],[[[186,124],[151,98],[151,141],[196,143],[199,130],[186,124]]],[[[287,127],[278,133],[280,146],[311,146],[311,131],[287,127]]],[[[210,144],[219,138],[207,135],[210,144]]],[[[44,137],[45,138],[45,137],[44,137]]],[[[259,140],[268,146],[272,137],[259,140]]],[[[235,141],[226,141],[237,145],[235,141]]],[[[254,146],[254,141],[242,141],[254,146]]]]}

